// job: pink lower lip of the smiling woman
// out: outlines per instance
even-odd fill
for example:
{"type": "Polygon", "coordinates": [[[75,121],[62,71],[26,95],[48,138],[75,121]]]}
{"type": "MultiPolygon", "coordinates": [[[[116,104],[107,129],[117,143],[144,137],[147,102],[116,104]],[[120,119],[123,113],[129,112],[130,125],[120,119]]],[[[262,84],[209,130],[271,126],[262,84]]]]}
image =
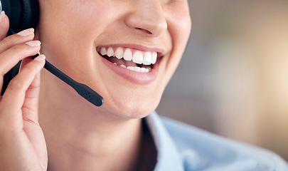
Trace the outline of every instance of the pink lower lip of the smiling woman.
{"type": "Polygon", "coordinates": [[[131,71],[129,69],[123,68],[122,66],[115,65],[114,63],[111,63],[105,58],[102,58],[102,61],[103,63],[105,63],[106,66],[108,66],[108,68],[114,71],[114,73],[117,73],[119,76],[122,76],[123,78],[138,84],[152,83],[156,79],[159,71],[159,61],[154,64],[153,68],[149,73],[131,71]]]}

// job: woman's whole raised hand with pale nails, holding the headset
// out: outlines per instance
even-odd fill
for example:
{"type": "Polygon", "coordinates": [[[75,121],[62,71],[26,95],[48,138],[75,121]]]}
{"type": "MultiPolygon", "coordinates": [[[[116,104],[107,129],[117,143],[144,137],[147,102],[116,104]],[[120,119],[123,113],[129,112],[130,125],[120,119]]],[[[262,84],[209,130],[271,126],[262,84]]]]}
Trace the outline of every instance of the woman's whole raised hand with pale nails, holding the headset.
{"type": "Polygon", "coordinates": [[[9,19],[0,16],[0,90],[4,74],[22,62],[21,71],[0,96],[0,170],[47,170],[48,156],[43,131],[38,123],[40,71],[45,56],[40,41],[32,41],[33,29],[6,37],[9,19]]]}

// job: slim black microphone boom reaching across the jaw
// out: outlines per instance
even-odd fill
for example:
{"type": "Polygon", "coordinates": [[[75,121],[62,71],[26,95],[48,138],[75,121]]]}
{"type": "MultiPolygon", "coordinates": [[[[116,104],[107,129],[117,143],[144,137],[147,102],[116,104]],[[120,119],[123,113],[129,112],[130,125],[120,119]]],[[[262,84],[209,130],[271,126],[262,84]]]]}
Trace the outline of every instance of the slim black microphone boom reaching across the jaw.
{"type": "MultiPolygon", "coordinates": [[[[37,56],[39,55],[36,54],[35,56],[31,56],[31,58],[34,59],[37,56]]],[[[85,84],[74,81],[72,78],[67,76],[65,73],[60,71],[58,68],[53,66],[48,61],[46,61],[44,68],[46,68],[46,70],[48,70],[50,73],[53,73],[54,76],[60,78],[60,80],[64,81],[69,86],[74,88],[74,90],[76,90],[79,95],[81,95],[83,98],[88,100],[93,105],[100,106],[104,103],[104,99],[102,98],[101,95],[96,93],[94,90],[92,90],[90,87],[86,86],[85,84]]]]}

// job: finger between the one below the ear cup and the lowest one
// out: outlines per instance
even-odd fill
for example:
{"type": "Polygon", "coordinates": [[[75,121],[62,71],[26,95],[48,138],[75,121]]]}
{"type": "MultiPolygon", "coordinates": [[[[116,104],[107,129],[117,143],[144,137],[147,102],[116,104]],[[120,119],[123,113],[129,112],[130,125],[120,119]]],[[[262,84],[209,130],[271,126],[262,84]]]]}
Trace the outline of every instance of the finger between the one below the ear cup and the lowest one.
{"type": "Polygon", "coordinates": [[[4,75],[13,68],[19,61],[28,56],[33,56],[40,51],[40,41],[29,41],[0,53],[0,89],[3,85],[4,75]]]}

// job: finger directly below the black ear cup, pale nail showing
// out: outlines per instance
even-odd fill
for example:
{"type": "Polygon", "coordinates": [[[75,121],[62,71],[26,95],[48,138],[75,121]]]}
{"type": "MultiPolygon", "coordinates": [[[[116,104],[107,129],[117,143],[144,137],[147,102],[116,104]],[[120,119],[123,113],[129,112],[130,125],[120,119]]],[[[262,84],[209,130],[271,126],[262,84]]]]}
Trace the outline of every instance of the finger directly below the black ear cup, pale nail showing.
{"type": "Polygon", "coordinates": [[[12,46],[16,46],[20,43],[26,43],[27,41],[32,41],[34,38],[34,29],[28,28],[26,30],[20,31],[14,35],[8,36],[0,41],[0,53],[3,53],[12,46]]]}

